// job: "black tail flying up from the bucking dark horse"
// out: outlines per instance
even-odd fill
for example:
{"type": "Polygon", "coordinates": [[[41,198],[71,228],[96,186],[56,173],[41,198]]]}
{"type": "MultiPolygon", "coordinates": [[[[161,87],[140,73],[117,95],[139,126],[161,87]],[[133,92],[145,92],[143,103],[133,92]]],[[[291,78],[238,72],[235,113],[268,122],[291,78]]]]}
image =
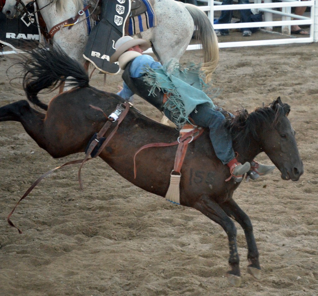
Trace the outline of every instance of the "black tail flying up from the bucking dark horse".
{"type": "Polygon", "coordinates": [[[82,65],[69,57],[61,48],[31,50],[22,63],[23,89],[28,100],[47,110],[47,105],[38,99],[39,91],[54,91],[62,83],[69,87],[87,87],[89,77],[82,65]]]}

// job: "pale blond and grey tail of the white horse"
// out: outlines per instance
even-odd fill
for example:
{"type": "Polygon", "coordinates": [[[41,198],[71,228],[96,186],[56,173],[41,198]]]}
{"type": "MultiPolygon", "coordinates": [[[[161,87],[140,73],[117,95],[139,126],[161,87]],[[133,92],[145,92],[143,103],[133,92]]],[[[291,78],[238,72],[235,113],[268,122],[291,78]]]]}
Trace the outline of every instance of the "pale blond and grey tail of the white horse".
{"type": "Polygon", "coordinates": [[[201,69],[205,73],[206,82],[209,82],[219,61],[218,37],[204,11],[191,4],[185,4],[185,8],[193,18],[195,26],[194,37],[197,40],[201,40],[202,43],[203,64],[201,69]]]}

